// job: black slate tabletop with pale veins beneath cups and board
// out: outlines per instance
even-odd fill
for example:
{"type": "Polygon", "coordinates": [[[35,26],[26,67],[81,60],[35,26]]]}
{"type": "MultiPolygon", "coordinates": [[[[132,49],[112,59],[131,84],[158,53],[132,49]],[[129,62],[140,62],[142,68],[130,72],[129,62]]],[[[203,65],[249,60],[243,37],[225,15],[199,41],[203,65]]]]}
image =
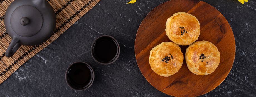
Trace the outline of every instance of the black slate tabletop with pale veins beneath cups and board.
{"type": "MultiPolygon", "coordinates": [[[[0,85],[0,96],[168,96],[142,76],[134,57],[134,40],[143,18],[168,0],[102,0],[51,45],[28,60],[0,85]],[[90,55],[90,46],[101,35],[111,35],[120,44],[119,59],[100,65],[90,55]],[[95,71],[93,85],[85,91],[70,89],[67,67],[76,61],[89,63],[95,71]]],[[[230,23],[236,42],[236,57],[228,77],[202,96],[256,95],[256,1],[203,0],[218,9],[230,23]]]]}

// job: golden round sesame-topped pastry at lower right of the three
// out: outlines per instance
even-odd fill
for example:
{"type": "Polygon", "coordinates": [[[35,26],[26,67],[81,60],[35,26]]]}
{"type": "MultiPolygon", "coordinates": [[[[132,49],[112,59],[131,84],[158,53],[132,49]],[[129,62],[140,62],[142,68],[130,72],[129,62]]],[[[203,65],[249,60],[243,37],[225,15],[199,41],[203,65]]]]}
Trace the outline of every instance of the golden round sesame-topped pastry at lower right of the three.
{"type": "Polygon", "coordinates": [[[196,75],[211,74],[220,63],[218,48],[208,41],[197,41],[189,45],[185,57],[188,69],[196,75]]]}

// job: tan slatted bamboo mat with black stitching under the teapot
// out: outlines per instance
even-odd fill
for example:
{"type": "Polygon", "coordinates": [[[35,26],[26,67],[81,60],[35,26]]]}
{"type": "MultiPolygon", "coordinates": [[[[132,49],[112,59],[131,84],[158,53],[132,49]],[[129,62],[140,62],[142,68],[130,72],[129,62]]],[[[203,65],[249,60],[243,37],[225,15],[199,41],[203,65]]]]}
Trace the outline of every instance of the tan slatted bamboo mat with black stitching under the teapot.
{"type": "Polygon", "coordinates": [[[22,45],[13,57],[7,58],[4,53],[11,42],[11,38],[4,28],[4,14],[13,1],[0,0],[0,84],[27,60],[57,39],[100,0],[46,0],[56,13],[56,27],[50,39],[36,46],[22,45]]]}

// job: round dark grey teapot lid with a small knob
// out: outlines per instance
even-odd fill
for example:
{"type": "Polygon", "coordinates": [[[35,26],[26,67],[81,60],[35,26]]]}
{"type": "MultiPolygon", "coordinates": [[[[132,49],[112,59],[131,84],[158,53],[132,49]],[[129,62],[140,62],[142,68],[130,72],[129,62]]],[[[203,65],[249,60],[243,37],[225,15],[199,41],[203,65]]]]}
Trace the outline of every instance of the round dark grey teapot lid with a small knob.
{"type": "Polygon", "coordinates": [[[40,11],[33,6],[23,5],[17,7],[10,18],[11,29],[22,37],[37,34],[42,25],[43,17],[40,11]]]}

